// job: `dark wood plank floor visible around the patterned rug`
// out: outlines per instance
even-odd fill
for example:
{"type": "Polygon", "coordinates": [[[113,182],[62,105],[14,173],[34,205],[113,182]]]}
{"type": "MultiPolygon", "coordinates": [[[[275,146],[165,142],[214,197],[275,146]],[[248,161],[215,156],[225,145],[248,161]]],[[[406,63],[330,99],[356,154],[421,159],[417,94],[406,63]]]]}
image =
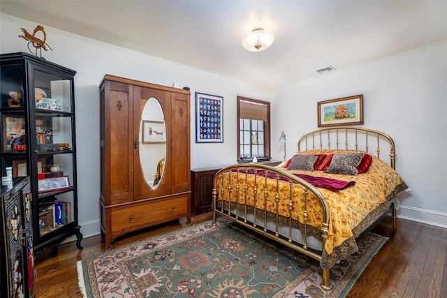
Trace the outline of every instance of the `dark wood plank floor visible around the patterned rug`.
{"type": "MultiPolygon", "coordinates": [[[[193,218],[192,223],[209,219],[210,214],[193,218]]],[[[122,237],[112,248],[186,226],[170,223],[122,237]]],[[[372,232],[390,237],[369,263],[348,297],[447,297],[447,229],[399,220],[392,230],[385,218],[372,232]]],[[[76,262],[106,251],[100,236],[62,244],[36,256],[36,297],[82,297],[78,288],[76,262]]]]}

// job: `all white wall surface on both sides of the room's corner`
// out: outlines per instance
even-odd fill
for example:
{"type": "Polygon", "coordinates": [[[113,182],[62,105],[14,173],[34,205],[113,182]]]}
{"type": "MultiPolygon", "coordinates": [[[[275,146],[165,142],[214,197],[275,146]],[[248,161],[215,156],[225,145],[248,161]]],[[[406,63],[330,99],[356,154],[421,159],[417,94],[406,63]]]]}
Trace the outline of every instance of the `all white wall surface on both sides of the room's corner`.
{"type": "MultiPolygon", "coordinates": [[[[0,14],[0,25],[0,53],[27,52],[27,42],[17,37],[20,27],[32,31],[37,24],[0,14]]],[[[106,73],[191,88],[192,168],[235,163],[237,95],[272,101],[272,152],[274,159],[281,160],[283,146],[276,142],[279,134],[286,132],[290,156],[298,137],[317,128],[318,101],[363,94],[364,126],[395,139],[397,171],[412,189],[400,196],[400,217],[447,228],[447,43],[268,91],[50,27],[45,31],[53,52],[43,56],[78,71],[79,220],[85,237],[100,232],[98,85],[106,73]],[[223,96],[223,143],[196,144],[196,91],[223,96]]]]}

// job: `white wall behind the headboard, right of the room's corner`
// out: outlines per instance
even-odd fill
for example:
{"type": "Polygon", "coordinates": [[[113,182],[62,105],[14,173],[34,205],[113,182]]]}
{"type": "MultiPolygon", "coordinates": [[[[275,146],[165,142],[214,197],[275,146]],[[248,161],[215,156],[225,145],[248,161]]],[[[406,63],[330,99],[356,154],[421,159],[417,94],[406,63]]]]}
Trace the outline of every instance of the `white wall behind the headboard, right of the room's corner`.
{"type": "Polygon", "coordinates": [[[400,195],[398,216],[447,228],[447,42],[276,90],[272,131],[285,131],[287,155],[318,128],[318,101],[356,94],[363,126],[395,140],[397,172],[412,190],[400,195]]]}

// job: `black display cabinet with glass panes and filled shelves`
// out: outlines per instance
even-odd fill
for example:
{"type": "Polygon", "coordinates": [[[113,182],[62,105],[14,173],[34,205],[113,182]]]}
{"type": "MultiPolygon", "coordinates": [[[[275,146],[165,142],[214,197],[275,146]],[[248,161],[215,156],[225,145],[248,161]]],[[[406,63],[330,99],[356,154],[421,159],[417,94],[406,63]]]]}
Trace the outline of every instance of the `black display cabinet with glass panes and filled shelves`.
{"type": "Polygon", "coordinates": [[[34,253],[76,236],[75,71],[26,53],[0,55],[1,171],[30,177],[34,253]]]}

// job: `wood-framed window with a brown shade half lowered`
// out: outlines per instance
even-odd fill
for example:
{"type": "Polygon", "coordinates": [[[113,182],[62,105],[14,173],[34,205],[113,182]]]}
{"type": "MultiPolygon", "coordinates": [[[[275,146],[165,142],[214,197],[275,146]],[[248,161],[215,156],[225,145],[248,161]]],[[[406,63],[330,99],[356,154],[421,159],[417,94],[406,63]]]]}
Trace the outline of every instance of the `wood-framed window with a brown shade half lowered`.
{"type": "Polygon", "coordinates": [[[270,161],[270,103],[237,96],[237,159],[270,161]]]}

